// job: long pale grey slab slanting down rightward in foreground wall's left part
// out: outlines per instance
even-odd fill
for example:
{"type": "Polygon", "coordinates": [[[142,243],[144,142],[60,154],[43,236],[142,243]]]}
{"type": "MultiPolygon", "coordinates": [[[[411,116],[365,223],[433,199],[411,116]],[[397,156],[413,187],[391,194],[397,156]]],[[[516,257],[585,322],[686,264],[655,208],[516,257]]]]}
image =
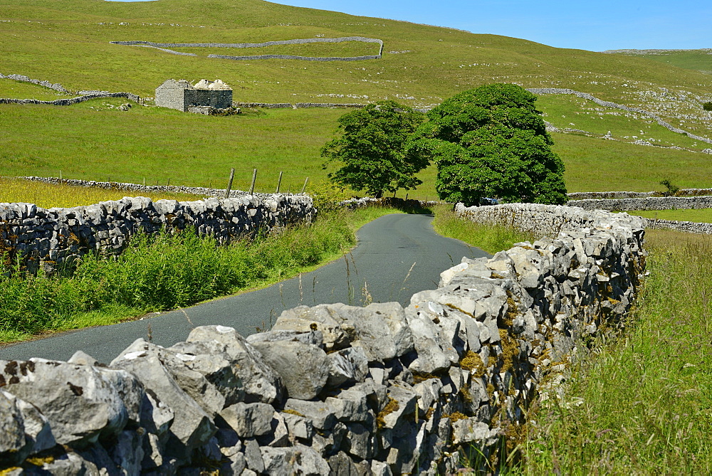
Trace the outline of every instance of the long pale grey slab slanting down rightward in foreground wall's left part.
{"type": "MultiPolygon", "coordinates": [[[[160,395],[160,401],[176,412],[170,433],[190,453],[194,448],[204,445],[214,435],[216,428],[204,409],[177,384],[172,372],[163,364],[164,349],[157,347],[137,339],[112,361],[111,366],[136,374],[145,388],[153,391],[154,395],[160,395]]],[[[155,411],[151,413],[155,415],[155,411]]],[[[169,450],[180,449],[170,445],[169,450]]]]}

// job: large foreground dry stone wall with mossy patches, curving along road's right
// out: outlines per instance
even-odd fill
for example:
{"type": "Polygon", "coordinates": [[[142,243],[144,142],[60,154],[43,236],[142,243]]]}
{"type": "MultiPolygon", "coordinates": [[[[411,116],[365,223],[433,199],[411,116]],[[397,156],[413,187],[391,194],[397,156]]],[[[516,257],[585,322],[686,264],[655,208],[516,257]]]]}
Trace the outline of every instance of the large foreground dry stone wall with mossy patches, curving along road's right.
{"type": "Polygon", "coordinates": [[[456,471],[463,448],[496,465],[530,404],[555,398],[580,337],[624,319],[643,222],[531,204],[456,211],[543,238],[464,258],[405,308],[296,307],[247,338],[214,325],[168,348],[138,339],[109,366],[82,352],[0,361],[0,470],[436,475],[456,471]]]}

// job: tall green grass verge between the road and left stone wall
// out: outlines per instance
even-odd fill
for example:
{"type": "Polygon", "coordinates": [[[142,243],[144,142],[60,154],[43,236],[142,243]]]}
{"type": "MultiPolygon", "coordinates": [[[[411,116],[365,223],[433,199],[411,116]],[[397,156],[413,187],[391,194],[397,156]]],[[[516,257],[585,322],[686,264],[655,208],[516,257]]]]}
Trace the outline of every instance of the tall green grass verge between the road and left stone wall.
{"type": "Polygon", "coordinates": [[[0,273],[0,342],[111,324],[292,277],[355,245],[355,229],[394,208],[320,216],[311,226],[229,245],[184,231],[138,235],[119,256],[85,255],[51,277],[0,273]]]}

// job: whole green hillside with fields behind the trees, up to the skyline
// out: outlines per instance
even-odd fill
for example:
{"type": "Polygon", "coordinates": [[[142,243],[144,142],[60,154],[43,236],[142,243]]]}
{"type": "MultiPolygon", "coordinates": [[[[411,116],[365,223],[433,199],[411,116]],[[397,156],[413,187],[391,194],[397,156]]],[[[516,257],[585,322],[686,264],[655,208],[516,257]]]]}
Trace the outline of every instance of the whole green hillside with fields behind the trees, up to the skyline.
{"type": "MultiPolygon", "coordinates": [[[[260,0],[135,4],[0,0],[0,73],[61,83],[72,92],[125,91],[149,98],[167,78],[221,78],[234,88],[234,100],[242,102],[370,102],[389,98],[414,107],[432,107],[456,92],[483,83],[510,82],[525,88],[588,92],[602,100],[642,107],[676,127],[712,137],[710,114],[701,109],[702,102],[712,100],[712,75],[697,70],[639,56],[552,48],[517,38],[260,0]],[[382,58],[321,62],[207,57],[214,53],[378,53],[377,44],[354,41],[261,48],[175,48],[196,56],[110,43],[261,43],[346,36],[382,40],[382,58]]],[[[61,96],[46,88],[0,79],[0,97],[47,100],[61,96]]],[[[118,112],[115,106],[119,103],[97,100],[68,108],[0,105],[0,174],[57,175],[63,170],[64,176],[72,178],[110,176],[137,181],[149,176],[202,185],[221,180],[229,166],[236,166],[241,176],[247,176],[242,180],[248,181],[252,167],[258,166],[290,170],[296,184],[306,175],[316,179],[325,176],[318,149],[331,137],[335,118],[342,113],[255,112],[243,117],[206,118],[137,107],[118,112]]],[[[542,96],[540,108],[555,127],[576,129],[574,135],[554,136],[567,163],[566,180],[572,191],[622,186],[649,190],[661,179],[676,174],[681,186],[708,185],[708,177],[699,171],[705,169],[710,156],[623,142],[645,136],[656,139],[656,145],[693,151],[709,144],[668,132],[644,117],[596,109],[574,97],[542,96]],[[608,130],[621,142],[602,142],[600,137],[608,130]],[[669,154],[676,157],[671,161],[675,164],[694,166],[690,171],[664,166],[616,183],[616,171],[626,166],[617,165],[618,158],[655,157],[651,164],[659,164],[665,163],[669,154]],[[593,166],[600,163],[602,167],[590,173],[591,165],[580,166],[580,157],[588,157],[593,166]],[[591,177],[608,171],[613,176],[595,181],[591,177]]],[[[418,194],[432,196],[432,176],[433,171],[424,171],[426,184],[418,194]]]]}

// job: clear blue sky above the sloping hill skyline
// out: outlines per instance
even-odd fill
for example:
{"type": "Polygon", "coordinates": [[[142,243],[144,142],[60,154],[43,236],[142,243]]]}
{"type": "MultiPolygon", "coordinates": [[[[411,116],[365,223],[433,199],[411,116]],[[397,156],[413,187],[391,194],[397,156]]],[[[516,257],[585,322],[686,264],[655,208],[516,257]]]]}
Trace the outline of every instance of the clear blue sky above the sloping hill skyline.
{"type": "Polygon", "coordinates": [[[276,3],[513,36],[557,48],[590,51],[712,48],[711,0],[287,0],[276,3]]]}

